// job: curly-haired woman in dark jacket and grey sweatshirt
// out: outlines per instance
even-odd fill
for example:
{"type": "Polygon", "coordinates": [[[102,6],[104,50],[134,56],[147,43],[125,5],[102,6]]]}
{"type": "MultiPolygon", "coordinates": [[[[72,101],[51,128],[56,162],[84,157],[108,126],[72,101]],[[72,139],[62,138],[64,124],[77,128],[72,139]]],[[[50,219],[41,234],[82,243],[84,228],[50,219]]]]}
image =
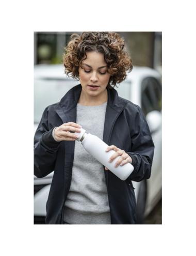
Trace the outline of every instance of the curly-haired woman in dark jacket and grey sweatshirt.
{"type": "Polygon", "coordinates": [[[140,107],[114,89],[132,70],[123,48],[124,40],[108,32],[74,34],[66,47],[65,72],[80,84],[44,110],[35,134],[35,175],[54,170],[46,224],[136,223],[132,180],[150,178],[154,144],[140,107]],[[81,126],[116,151],[110,161],[121,156],[116,166],[133,164],[125,181],[75,141],[81,126]]]}

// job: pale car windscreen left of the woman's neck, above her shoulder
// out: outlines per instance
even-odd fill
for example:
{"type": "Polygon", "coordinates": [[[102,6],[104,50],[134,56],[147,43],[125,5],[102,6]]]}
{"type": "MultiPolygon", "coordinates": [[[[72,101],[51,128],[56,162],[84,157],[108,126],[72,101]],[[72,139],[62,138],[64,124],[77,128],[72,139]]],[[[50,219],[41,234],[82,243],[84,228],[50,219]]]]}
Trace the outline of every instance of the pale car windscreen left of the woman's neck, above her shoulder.
{"type": "Polygon", "coordinates": [[[79,81],[43,78],[34,80],[34,122],[39,123],[44,109],[60,99],[79,81]]]}

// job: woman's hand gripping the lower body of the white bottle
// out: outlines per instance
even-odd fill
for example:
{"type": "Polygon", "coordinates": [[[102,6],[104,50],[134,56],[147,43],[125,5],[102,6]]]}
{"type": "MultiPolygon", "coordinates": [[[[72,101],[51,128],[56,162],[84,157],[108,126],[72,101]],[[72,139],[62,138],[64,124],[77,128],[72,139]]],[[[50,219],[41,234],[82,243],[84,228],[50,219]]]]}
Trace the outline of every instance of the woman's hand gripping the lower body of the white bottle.
{"type": "MultiPolygon", "coordinates": [[[[119,165],[124,165],[126,163],[132,163],[132,158],[122,149],[117,148],[115,145],[111,145],[106,149],[106,152],[110,151],[111,149],[115,150],[116,152],[111,155],[109,162],[111,163],[115,158],[121,156],[119,160],[116,162],[115,167],[119,165]]],[[[105,167],[105,170],[108,170],[107,167],[105,167]]]]}

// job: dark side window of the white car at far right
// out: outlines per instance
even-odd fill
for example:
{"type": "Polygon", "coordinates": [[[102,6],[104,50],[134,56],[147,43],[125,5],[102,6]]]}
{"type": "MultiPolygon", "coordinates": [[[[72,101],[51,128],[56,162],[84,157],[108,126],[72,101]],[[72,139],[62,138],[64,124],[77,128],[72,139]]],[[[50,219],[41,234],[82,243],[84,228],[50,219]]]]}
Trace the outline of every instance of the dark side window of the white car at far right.
{"type": "Polygon", "coordinates": [[[153,110],[161,111],[161,84],[154,77],[146,77],[141,83],[141,107],[146,116],[153,110]]]}

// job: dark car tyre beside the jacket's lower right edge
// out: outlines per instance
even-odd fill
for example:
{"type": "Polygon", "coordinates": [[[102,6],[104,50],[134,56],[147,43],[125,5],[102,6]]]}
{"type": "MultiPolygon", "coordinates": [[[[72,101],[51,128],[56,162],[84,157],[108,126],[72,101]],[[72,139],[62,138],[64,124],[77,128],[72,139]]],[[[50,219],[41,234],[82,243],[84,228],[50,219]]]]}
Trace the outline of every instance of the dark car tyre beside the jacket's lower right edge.
{"type": "Polygon", "coordinates": [[[136,216],[137,216],[136,224],[143,224],[143,221],[144,221],[146,192],[147,192],[146,182],[145,180],[142,180],[140,182],[139,192],[137,197],[137,204],[136,204],[136,216]]]}

